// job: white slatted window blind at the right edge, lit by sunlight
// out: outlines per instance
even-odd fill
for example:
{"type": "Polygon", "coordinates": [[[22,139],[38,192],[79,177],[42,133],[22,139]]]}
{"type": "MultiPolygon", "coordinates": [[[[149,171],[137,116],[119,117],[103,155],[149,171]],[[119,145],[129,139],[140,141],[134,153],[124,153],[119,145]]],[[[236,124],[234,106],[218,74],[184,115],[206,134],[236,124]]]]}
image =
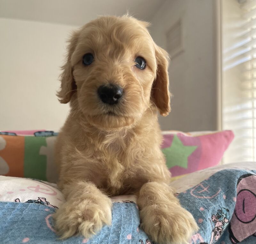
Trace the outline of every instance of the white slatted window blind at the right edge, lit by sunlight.
{"type": "Polygon", "coordinates": [[[222,9],[222,126],[235,140],[224,163],[256,161],[256,0],[232,4],[222,9]]]}

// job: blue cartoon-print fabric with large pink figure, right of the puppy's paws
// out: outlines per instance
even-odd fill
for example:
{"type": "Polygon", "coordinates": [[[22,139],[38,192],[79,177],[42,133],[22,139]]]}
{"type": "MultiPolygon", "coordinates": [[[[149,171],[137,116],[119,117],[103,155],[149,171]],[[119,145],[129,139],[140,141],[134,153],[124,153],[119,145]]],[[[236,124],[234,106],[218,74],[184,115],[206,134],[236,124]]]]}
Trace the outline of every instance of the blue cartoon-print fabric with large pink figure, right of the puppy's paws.
{"type": "Polygon", "coordinates": [[[190,244],[256,243],[255,193],[256,171],[225,169],[178,194],[200,227],[190,244]]]}

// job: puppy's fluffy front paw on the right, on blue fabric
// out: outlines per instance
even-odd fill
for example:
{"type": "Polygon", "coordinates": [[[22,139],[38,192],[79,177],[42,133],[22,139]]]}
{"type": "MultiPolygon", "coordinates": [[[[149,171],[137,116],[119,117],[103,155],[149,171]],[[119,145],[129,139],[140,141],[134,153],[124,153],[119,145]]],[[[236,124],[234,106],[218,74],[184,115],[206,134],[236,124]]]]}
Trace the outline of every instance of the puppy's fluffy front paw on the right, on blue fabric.
{"type": "Polygon", "coordinates": [[[191,213],[175,205],[149,205],[140,211],[140,226],[153,241],[159,244],[188,243],[198,230],[191,213]]]}

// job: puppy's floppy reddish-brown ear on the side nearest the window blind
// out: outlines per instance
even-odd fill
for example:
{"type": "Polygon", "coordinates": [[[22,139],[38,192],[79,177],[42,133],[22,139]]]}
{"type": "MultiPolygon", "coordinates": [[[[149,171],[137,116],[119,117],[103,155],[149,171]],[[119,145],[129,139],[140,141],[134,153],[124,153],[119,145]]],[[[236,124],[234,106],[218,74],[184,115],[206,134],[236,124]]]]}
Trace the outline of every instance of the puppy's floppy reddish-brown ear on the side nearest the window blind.
{"type": "Polygon", "coordinates": [[[168,53],[155,44],[157,61],[156,79],[154,80],[151,96],[162,116],[171,111],[168,66],[170,57],[168,53]]]}

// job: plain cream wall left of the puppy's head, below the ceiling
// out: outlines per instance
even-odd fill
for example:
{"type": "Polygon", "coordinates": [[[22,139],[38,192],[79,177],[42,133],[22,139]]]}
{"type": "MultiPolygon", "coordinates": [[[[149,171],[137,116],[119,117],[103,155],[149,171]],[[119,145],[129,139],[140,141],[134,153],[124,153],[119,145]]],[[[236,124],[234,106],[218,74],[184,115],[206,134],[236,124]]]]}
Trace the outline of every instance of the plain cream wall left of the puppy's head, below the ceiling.
{"type": "Polygon", "coordinates": [[[0,130],[58,130],[64,123],[68,105],[55,92],[74,28],[0,18],[0,130]]]}

